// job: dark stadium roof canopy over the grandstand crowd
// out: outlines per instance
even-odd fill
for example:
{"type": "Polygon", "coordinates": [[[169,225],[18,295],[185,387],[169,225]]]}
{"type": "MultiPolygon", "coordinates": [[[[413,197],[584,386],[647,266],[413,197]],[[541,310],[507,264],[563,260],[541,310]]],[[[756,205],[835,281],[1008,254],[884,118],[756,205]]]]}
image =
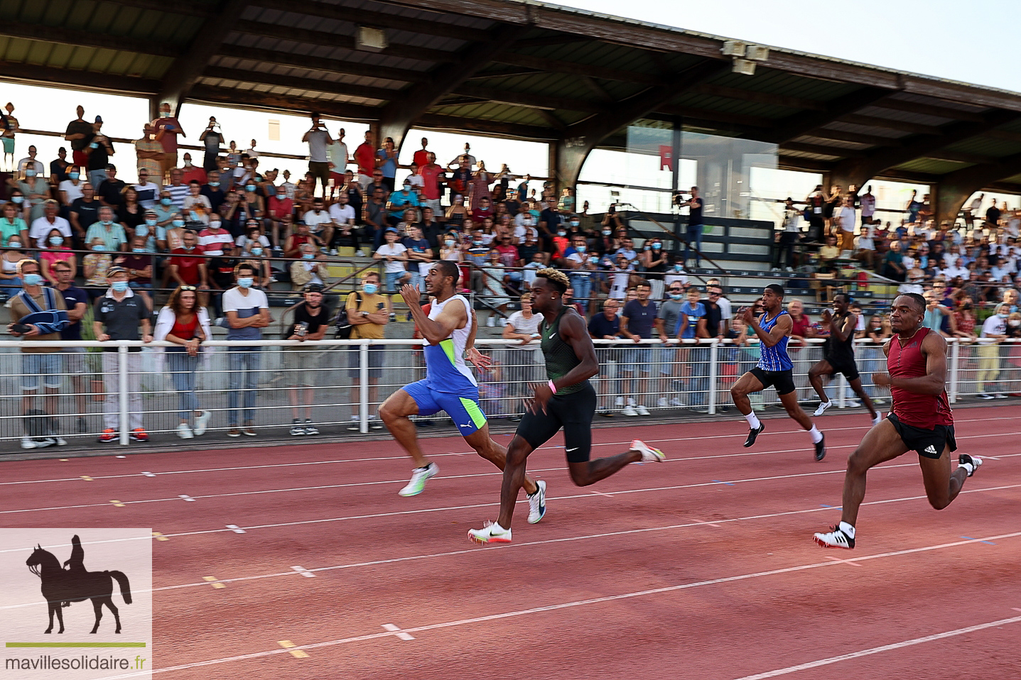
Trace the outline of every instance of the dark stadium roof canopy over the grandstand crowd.
{"type": "Polygon", "coordinates": [[[836,184],[1021,192],[1021,94],[532,0],[4,0],[0,79],[548,141],[557,178],[633,122],[773,142],[836,184]],[[736,46],[740,52],[741,46],[736,46]],[[751,75],[736,72],[755,65],[751,75]]]}

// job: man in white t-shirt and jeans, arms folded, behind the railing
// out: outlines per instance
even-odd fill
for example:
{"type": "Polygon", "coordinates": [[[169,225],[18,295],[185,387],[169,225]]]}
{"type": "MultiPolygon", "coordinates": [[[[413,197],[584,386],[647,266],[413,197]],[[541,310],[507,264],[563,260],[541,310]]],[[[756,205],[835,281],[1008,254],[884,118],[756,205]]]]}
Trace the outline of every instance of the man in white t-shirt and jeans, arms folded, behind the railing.
{"type": "MultiPolygon", "coordinates": [[[[230,236],[230,234],[228,234],[230,236]]],[[[227,391],[227,436],[255,436],[255,388],[258,386],[260,347],[245,346],[245,341],[262,339],[262,328],[270,326],[270,302],[265,294],[253,289],[255,267],[242,262],[234,268],[237,286],[224,293],[224,316],[227,339],[238,343],[228,349],[230,382],[227,391]],[[244,424],[238,427],[238,406],[242,401],[244,424]]]]}

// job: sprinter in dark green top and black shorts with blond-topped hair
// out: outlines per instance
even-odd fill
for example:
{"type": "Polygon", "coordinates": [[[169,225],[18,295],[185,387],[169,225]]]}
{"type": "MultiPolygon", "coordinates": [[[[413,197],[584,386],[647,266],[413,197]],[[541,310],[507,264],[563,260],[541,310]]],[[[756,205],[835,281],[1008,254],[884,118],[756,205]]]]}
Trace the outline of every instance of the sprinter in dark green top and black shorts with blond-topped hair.
{"type": "MultiPolygon", "coordinates": [[[[561,428],[564,428],[568,470],[571,480],[578,486],[609,477],[629,463],[659,463],[665,458],[660,450],[634,439],[631,449],[623,454],[589,460],[596,398],[588,378],[599,372],[599,363],[585,319],[573,307],[564,306],[564,292],[568,285],[568,277],[561,271],[540,269],[536,272],[532,283],[532,309],[543,317],[539,331],[549,382],[535,386],[535,398],[507,448],[499,518],[482,529],[470,529],[469,538],[475,542],[510,542],[510,519],[518,491],[525,481],[525,462],[529,454],[561,428]]],[[[544,503],[542,510],[545,511],[544,503]]]]}

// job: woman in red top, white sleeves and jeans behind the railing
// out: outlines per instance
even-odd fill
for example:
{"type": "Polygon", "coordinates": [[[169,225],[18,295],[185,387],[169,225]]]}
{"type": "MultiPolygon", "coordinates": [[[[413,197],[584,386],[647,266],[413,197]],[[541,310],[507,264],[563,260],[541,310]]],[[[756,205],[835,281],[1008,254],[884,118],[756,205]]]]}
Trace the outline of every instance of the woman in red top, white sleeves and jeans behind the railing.
{"type": "Polygon", "coordinates": [[[165,348],[164,353],[166,367],[174,378],[174,389],[178,393],[178,417],[181,419],[178,436],[182,439],[205,433],[212,417],[211,413],[199,408],[198,397],[195,396],[199,346],[210,336],[209,315],[204,307],[199,307],[195,286],[179,285],[171,294],[166,307],[159,310],[154,338],[175,346],[165,348]],[[194,429],[188,424],[193,414],[194,429]]]}

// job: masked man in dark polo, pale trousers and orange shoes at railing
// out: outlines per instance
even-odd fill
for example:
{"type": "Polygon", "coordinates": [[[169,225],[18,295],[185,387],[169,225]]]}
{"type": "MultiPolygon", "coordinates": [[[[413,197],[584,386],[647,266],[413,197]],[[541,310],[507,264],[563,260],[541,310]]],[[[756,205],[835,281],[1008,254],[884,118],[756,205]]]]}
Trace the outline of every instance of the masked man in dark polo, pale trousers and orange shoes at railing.
{"type": "MultiPolygon", "coordinates": [[[[128,271],[121,267],[110,267],[106,272],[110,287],[106,295],[95,304],[93,331],[100,343],[108,341],[152,342],[149,323],[149,308],[128,284],[128,271]],[[139,326],[142,332],[139,333],[139,326]]],[[[142,349],[128,350],[128,419],[130,437],[135,441],[148,441],[149,435],[142,427],[142,349]]],[[[117,440],[119,427],[119,379],[118,352],[116,347],[103,348],[103,379],[106,401],[103,405],[102,443],[117,440]]]]}

